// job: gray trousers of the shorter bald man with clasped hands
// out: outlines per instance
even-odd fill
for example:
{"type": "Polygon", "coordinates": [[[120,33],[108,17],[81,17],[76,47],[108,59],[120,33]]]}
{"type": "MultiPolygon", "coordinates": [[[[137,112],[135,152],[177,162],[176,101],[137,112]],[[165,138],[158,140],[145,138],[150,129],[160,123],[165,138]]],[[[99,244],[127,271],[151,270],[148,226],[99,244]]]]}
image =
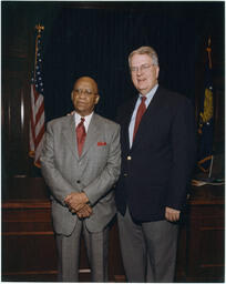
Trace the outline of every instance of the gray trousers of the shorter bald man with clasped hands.
{"type": "Polygon", "coordinates": [[[70,236],[56,234],[60,282],[79,282],[80,239],[83,234],[91,266],[92,282],[107,282],[109,227],[91,233],[82,221],[70,236]]]}

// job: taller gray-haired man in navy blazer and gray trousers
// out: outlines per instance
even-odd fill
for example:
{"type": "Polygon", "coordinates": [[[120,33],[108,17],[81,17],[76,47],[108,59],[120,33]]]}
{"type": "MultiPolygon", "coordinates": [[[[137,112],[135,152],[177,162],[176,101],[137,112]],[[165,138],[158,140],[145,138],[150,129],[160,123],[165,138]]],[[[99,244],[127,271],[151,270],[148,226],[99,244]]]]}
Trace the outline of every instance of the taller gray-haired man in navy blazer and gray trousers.
{"type": "Polygon", "coordinates": [[[173,282],[181,212],[195,162],[189,100],[158,85],[151,47],[129,57],[138,97],[119,111],[122,170],[116,187],[122,257],[129,282],[173,282]]]}

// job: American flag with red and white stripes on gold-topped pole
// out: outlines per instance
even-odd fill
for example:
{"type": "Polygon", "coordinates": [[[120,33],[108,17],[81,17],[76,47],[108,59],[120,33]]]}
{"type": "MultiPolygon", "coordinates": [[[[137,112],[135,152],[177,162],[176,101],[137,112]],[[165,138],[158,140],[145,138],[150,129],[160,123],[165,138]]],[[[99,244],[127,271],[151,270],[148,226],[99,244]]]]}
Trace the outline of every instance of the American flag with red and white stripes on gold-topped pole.
{"type": "Polygon", "coordinates": [[[41,33],[42,26],[35,26],[38,36],[35,39],[34,72],[31,79],[31,114],[30,114],[30,146],[29,155],[34,159],[34,165],[40,168],[40,154],[44,138],[44,85],[43,85],[43,58],[41,33]]]}

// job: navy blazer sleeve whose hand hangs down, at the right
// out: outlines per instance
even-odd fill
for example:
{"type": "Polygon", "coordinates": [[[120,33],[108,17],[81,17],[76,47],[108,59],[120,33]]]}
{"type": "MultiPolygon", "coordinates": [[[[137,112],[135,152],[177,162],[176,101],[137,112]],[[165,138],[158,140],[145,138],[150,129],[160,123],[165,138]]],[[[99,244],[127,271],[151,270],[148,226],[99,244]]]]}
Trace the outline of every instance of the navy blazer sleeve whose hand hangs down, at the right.
{"type": "Polygon", "coordinates": [[[182,210],[196,161],[194,108],[188,100],[177,108],[172,125],[173,169],[166,206],[182,210]]]}

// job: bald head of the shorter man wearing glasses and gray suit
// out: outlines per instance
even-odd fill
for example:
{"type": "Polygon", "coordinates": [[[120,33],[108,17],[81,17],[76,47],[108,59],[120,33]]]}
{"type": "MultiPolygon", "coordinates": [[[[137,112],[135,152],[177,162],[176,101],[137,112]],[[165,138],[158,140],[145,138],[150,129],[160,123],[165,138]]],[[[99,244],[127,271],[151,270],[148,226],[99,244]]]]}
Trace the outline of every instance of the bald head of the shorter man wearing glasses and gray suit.
{"type": "Polygon", "coordinates": [[[75,111],[81,116],[91,114],[99,99],[97,85],[93,79],[84,77],[75,82],[72,91],[72,101],[75,111]]]}

